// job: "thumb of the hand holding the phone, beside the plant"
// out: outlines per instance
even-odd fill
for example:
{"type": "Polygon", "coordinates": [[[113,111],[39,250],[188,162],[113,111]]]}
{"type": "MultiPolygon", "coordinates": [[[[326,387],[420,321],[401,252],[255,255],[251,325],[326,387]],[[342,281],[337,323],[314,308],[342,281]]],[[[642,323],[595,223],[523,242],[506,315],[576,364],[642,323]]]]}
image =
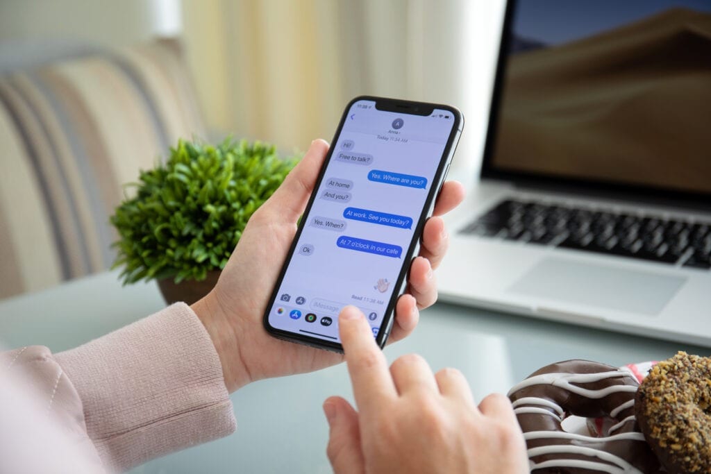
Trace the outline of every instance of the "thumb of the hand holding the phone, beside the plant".
{"type": "Polygon", "coordinates": [[[304,212],[306,203],[309,202],[309,196],[316,185],[316,177],[319,176],[326,153],[328,153],[326,141],[321,139],[312,141],[304,158],[301,158],[301,161],[284,178],[282,185],[262,205],[264,211],[273,213],[279,221],[286,219],[287,222],[296,222],[304,212]]]}

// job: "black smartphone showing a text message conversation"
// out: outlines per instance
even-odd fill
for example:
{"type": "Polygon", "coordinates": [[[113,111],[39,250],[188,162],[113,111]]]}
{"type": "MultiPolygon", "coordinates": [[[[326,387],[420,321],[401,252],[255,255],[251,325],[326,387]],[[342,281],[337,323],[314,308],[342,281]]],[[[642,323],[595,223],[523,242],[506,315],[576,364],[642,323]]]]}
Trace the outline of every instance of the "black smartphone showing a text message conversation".
{"type": "Polygon", "coordinates": [[[346,106],[264,314],[277,338],[343,352],[353,305],[381,348],[464,118],[448,105],[356,97],[346,106]]]}

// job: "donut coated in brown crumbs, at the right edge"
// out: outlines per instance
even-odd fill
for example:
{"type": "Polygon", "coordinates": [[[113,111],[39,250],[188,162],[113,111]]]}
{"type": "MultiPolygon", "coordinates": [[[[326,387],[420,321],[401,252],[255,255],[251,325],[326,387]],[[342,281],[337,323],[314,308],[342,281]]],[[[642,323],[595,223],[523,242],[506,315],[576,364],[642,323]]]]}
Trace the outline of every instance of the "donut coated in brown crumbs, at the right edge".
{"type": "Polygon", "coordinates": [[[636,396],[639,426],[670,473],[711,473],[711,358],[678,352],[636,396]]]}

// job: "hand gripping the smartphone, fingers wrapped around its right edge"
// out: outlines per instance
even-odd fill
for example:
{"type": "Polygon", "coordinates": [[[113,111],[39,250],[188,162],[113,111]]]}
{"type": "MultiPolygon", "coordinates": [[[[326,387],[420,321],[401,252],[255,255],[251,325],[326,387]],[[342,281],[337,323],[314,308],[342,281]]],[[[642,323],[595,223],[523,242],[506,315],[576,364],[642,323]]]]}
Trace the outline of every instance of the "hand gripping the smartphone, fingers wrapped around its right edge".
{"type": "MultiPolygon", "coordinates": [[[[342,355],[278,340],[262,325],[269,296],[296,234],[328,144],[316,140],[269,200],[251,217],[239,244],[213,291],[193,304],[220,355],[225,384],[230,392],[266,377],[279,377],[328,367],[342,355]]],[[[419,257],[412,261],[408,293],[395,308],[390,341],[410,334],[419,320],[419,309],[437,300],[432,270],[447,251],[448,239],[439,215],[456,207],[464,188],[444,183],[431,217],[422,232],[419,257]]]]}

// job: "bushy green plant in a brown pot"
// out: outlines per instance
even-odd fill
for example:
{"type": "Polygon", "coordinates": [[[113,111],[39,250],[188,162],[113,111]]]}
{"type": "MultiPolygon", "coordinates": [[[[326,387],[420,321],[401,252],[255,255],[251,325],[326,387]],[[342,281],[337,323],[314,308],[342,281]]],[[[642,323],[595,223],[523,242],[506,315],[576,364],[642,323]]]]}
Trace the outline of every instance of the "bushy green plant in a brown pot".
{"type": "Polygon", "coordinates": [[[274,146],[179,140],[165,164],[141,171],[116,208],[114,268],[124,284],[158,280],[167,303],[190,304],[215,285],[257,208],[296,164],[274,146]]]}

